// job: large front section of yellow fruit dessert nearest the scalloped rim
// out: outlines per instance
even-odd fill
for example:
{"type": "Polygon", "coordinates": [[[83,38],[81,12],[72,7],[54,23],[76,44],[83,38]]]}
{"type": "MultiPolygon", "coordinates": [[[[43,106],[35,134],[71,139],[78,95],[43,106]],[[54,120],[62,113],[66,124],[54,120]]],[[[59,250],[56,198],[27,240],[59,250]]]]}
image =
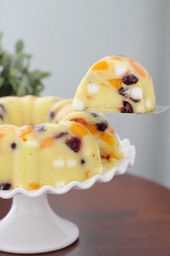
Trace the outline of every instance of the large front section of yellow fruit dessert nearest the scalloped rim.
{"type": "Polygon", "coordinates": [[[99,148],[81,124],[0,126],[0,187],[60,187],[102,174],[99,148]]]}

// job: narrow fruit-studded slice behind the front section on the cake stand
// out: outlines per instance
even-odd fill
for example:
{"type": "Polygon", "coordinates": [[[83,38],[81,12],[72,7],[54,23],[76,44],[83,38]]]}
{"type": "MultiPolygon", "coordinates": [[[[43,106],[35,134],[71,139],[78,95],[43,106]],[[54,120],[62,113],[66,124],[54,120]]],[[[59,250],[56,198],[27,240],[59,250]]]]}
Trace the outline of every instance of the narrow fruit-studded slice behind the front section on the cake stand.
{"type": "Polygon", "coordinates": [[[93,112],[75,111],[68,114],[65,120],[76,121],[86,127],[86,129],[89,129],[89,132],[91,132],[91,135],[93,135],[99,145],[104,169],[112,168],[117,164],[117,160],[122,159],[123,154],[120,142],[115,130],[104,115],[93,112]]]}

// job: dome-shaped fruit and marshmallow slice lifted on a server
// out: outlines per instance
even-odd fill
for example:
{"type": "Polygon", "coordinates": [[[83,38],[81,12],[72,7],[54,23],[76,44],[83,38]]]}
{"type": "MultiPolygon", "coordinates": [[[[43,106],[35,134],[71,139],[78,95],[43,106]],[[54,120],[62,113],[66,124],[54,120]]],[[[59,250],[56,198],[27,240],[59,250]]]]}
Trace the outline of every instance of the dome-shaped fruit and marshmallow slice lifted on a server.
{"type": "Polygon", "coordinates": [[[156,108],[151,76],[137,61],[108,56],[93,64],[73,99],[76,111],[144,113],[156,108]]]}

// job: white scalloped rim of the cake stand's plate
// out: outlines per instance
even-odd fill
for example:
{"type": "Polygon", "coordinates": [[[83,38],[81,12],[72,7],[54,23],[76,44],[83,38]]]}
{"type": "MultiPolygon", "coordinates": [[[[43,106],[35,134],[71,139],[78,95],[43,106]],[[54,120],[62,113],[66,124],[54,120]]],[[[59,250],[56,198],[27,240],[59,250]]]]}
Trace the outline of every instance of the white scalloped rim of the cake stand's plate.
{"type": "Polygon", "coordinates": [[[97,175],[91,176],[91,178],[86,179],[84,182],[77,182],[77,181],[69,182],[63,187],[58,187],[58,188],[51,187],[51,186],[44,186],[44,187],[41,187],[40,189],[36,189],[33,191],[28,191],[26,189],[23,189],[22,187],[17,187],[13,190],[6,190],[6,191],[0,190],[0,197],[4,199],[8,199],[8,198],[14,197],[17,194],[22,194],[27,197],[40,197],[44,193],[63,195],[71,189],[89,189],[96,182],[109,182],[111,179],[113,179],[115,174],[125,174],[125,171],[127,170],[127,168],[130,166],[133,166],[133,163],[135,161],[135,146],[130,145],[130,140],[128,139],[120,140],[120,144],[122,145],[122,151],[125,157],[120,161],[119,166],[115,166],[109,171],[104,171],[104,174],[97,174],[97,175]]]}

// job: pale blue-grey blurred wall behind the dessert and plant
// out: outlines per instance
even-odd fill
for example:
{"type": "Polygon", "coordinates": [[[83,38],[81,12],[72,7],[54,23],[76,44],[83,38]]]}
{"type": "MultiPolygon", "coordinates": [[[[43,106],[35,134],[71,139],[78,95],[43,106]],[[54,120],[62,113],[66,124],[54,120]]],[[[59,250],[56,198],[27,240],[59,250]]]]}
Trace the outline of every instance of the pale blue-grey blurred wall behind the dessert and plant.
{"type": "MultiPolygon", "coordinates": [[[[157,103],[169,104],[169,13],[168,0],[0,0],[0,30],[7,49],[23,38],[32,68],[53,73],[43,95],[72,98],[94,61],[122,54],[148,69],[157,103]]],[[[170,187],[170,111],[109,119],[136,146],[129,171],[170,187]]]]}

